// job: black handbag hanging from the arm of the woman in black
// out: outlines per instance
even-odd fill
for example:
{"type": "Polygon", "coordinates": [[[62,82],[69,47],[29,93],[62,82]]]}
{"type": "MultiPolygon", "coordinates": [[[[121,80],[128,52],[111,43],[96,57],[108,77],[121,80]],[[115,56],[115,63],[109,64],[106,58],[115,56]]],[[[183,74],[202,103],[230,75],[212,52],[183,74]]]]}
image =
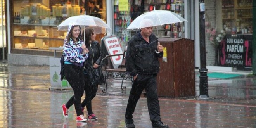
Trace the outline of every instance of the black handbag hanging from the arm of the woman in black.
{"type": "MultiPolygon", "coordinates": [[[[92,66],[84,69],[84,73],[90,77],[91,85],[104,85],[106,83],[104,75],[100,67],[93,68],[92,66]]],[[[86,81],[85,81],[86,82],[86,81]]]]}

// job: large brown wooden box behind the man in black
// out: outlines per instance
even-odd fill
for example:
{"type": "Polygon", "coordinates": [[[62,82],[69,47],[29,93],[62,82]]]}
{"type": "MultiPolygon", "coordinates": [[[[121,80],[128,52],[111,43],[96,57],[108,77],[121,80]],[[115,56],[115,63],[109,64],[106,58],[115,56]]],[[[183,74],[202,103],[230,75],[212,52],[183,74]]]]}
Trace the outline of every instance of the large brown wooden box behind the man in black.
{"type": "Polygon", "coordinates": [[[159,59],[158,96],[195,96],[194,40],[159,38],[159,42],[164,56],[159,59]]]}

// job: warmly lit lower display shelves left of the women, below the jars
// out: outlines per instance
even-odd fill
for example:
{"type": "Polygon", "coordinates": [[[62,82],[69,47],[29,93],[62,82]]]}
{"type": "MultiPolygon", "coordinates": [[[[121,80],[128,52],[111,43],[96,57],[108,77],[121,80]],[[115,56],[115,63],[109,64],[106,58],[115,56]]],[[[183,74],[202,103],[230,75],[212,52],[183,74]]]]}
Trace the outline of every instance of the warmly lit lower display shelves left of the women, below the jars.
{"type": "Polygon", "coordinates": [[[57,25],[14,23],[14,48],[42,49],[63,45],[66,32],[57,31],[57,25]]]}

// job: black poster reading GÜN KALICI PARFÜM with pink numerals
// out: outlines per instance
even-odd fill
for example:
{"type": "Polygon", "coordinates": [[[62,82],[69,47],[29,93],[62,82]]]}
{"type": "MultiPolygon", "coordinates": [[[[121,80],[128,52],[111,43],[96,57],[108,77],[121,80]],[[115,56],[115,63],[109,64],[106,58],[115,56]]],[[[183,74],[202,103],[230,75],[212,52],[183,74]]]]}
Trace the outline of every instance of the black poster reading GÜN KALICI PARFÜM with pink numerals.
{"type": "Polygon", "coordinates": [[[252,35],[226,35],[220,42],[220,66],[252,69],[252,35]]]}

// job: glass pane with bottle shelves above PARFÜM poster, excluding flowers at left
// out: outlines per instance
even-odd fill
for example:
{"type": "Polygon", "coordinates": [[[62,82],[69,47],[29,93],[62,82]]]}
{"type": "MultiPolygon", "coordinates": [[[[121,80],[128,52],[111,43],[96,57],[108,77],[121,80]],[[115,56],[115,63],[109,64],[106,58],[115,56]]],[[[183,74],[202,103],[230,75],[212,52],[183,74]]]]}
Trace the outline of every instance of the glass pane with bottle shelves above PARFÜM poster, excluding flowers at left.
{"type": "Polygon", "coordinates": [[[222,0],[223,31],[220,40],[220,66],[237,70],[252,69],[252,0],[222,0]]]}

